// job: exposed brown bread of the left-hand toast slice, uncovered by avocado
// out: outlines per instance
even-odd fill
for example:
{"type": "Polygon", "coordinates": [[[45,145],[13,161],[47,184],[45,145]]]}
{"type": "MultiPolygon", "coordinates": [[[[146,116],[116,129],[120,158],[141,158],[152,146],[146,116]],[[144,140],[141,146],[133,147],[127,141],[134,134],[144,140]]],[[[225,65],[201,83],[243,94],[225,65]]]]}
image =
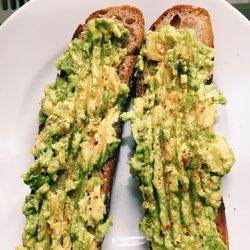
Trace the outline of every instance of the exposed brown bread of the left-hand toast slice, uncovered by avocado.
{"type": "MultiPolygon", "coordinates": [[[[121,24],[123,24],[130,31],[130,35],[128,39],[123,44],[123,47],[127,48],[127,55],[124,57],[122,63],[118,66],[118,76],[121,82],[129,85],[130,79],[133,73],[133,67],[137,59],[138,48],[140,47],[141,42],[143,40],[143,36],[144,36],[143,14],[141,13],[139,9],[132,7],[132,6],[128,6],[128,5],[110,7],[107,9],[102,9],[102,10],[98,10],[94,12],[86,19],[86,23],[89,22],[90,20],[97,19],[100,17],[106,17],[106,18],[116,17],[116,20],[120,22],[121,24]]],[[[86,23],[79,25],[79,27],[74,32],[73,39],[74,38],[81,39],[82,31],[84,31],[84,29],[87,28],[86,23]]],[[[65,75],[65,72],[61,71],[60,76],[63,77],[64,75],[65,75]]],[[[118,122],[118,124],[115,125],[117,137],[120,137],[121,135],[121,125],[122,125],[121,122],[118,122]]],[[[41,133],[43,129],[44,129],[44,125],[41,125],[39,127],[39,133],[41,133]]],[[[112,188],[113,174],[114,174],[116,161],[117,161],[117,153],[118,153],[118,150],[116,151],[115,157],[113,157],[112,159],[109,159],[104,164],[104,166],[100,166],[101,167],[100,169],[103,173],[103,176],[102,176],[103,184],[101,186],[101,193],[104,195],[106,212],[107,212],[105,217],[107,217],[109,213],[110,194],[111,194],[111,188],[112,188]]],[[[70,174],[70,170],[66,171],[65,173],[62,173],[60,177],[58,178],[58,182],[67,180],[69,174],[70,174]]],[[[77,196],[77,194],[74,191],[72,191],[71,195],[72,197],[77,196]]],[[[106,218],[104,218],[104,220],[106,220],[106,218]]],[[[82,247],[84,248],[84,246],[82,247]]],[[[91,249],[99,249],[99,248],[100,246],[98,243],[98,246],[96,246],[95,248],[91,248],[91,249]]],[[[17,247],[17,249],[23,249],[23,248],[17,247]]]]}

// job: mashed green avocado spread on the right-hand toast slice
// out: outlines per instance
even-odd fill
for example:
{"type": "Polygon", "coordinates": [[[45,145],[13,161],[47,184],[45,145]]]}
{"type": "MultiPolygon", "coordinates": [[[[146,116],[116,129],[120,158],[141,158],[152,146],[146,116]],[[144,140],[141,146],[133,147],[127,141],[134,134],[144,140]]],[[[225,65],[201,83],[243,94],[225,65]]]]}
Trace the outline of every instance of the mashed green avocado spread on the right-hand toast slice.
{"type": "Polygon", "coordinates": [[[144,200],[140,229],[154,250],[227,249],[215,219],[234,156],[213,130],[216,104],[226,103],[209,84],[213,57],[193,30],[165,25],[147,33],[136,64],[146,92],[122,118],[136,142],[129,163],[144,200]]]}

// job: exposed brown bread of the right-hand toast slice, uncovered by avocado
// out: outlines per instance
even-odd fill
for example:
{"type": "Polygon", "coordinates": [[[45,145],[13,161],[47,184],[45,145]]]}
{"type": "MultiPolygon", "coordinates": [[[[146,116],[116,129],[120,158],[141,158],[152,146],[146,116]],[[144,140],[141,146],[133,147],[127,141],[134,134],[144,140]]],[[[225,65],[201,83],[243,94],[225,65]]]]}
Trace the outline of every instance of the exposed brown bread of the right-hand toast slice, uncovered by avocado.
{"type": "MultiPolygon", "coordinates": [[[[198,39],[209,47],[214,47],[214,36],[210,15],[207,10],[191,5],[176,5],[166,10],[152,24],[150,30],[159,29],[165,24],[170,24],[177,29],[193,29],[198,39]]],[[[146,86],[142,79],[139,80],[136,87],[136,95],[142,96],[146,91],[146,86]]],[[[222,200],[221,206],[216,217],[217,230],[223,242],[228,246],[228,232],[226,225],[225,206],[222,200]]]]}

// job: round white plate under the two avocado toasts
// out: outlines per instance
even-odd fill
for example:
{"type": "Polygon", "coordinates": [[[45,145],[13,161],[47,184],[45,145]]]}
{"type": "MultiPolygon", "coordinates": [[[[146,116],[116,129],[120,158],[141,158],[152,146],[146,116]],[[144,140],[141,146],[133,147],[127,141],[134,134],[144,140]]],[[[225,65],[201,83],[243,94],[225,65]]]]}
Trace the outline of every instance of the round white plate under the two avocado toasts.
{"type": "MultiPolygon", "coordinates": [[[[21,209],[29,189],[20,176],[33,162],[39,102],[43,86],[55,79],[56,59],[91,12],[125,2],[142,10],[146,29],[177,3],[210,12],[216,50],[214,79],[228,99],[227,106],[219,108],[216,129],[226,136],[236,156],[223,185],[230,247],[249,249],[250,23],[222,0],[32,0],[0,27],[0,249],[14,249],[21,242],[25,219],[21,209]]],[[[128,124],[123,138],[112,193],[114,225],[104,250],[147,249],[137,229],[142,216],[140,194],[126,163],[133,144],[128,124]]]]}

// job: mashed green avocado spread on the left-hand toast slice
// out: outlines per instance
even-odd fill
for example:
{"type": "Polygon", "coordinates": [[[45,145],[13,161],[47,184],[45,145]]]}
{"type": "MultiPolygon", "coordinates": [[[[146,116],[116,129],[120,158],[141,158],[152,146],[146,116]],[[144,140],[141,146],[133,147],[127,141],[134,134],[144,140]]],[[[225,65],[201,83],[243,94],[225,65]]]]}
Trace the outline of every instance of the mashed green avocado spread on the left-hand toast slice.
{"type": "Polygon", "coordinates": [[[23,245],[29,250],[99,249],[112,225],[103,166],[120,143],[115,125],[129,87],[118,77],[129,31],[114,18],[89,21],[57,62],[45,88],[35,162],[23,175],[23,245]]]}

